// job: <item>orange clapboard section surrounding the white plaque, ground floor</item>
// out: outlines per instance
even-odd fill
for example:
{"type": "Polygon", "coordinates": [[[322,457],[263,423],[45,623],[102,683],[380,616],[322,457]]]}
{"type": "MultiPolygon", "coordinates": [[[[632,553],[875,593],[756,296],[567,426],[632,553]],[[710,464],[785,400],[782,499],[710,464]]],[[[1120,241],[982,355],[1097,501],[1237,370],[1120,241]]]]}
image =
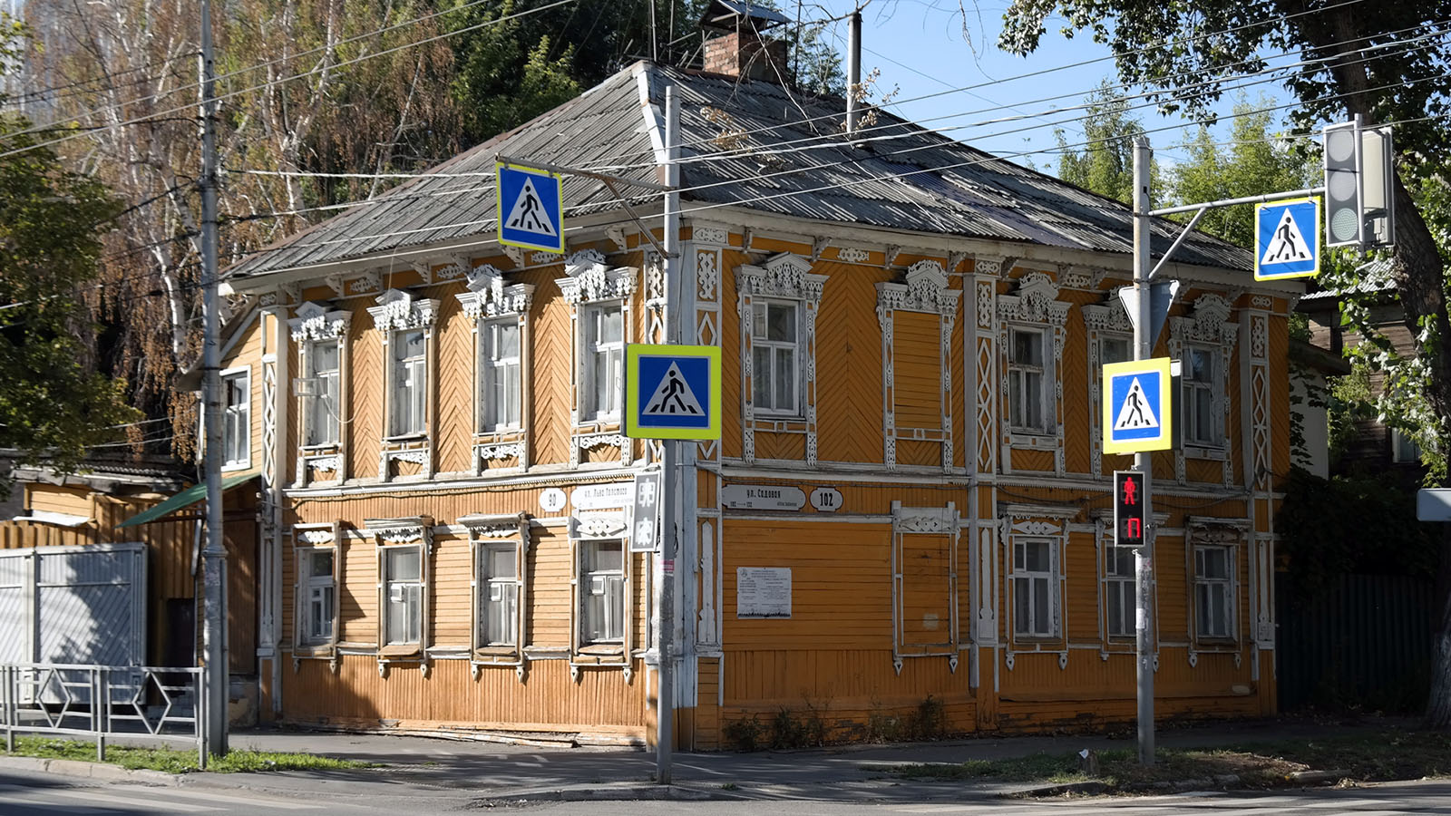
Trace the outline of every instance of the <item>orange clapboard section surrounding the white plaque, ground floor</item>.
{"type": "MultiPolygon", "coordinates": [[[[891,649],[891,527],[724,518],[727,655],[757,648],[891,649]],[[736,569],[791,568],[789,620],[739,620],[736,569]]],[[[727,665],[733,661],[727,656],[727,665]]]]}

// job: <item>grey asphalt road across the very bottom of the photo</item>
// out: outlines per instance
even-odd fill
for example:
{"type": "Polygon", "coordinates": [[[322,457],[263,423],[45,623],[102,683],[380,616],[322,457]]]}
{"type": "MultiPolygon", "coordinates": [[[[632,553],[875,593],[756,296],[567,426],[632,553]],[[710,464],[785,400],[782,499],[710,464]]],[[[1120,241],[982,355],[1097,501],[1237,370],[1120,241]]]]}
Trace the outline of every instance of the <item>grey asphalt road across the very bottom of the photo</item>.
{"type": "MultiPolygon", "coordinates": [[[[723,791],[724,793],[724,791],[723,791]]],[[[1451,816],[1451,780],[1392,783],[1361,788],[1306,788],[1271,793],[1187,793],[1158,797],[1016,801],[975,799],[910,803],[736,800],[736,801],[479,801],[466,790],[414,788],[390,796],[376,791],[302,790],[289,794],[205,786],[147,787],[87,784],[48,774],[0,774],[0,816],[139,816],[200,813],[277,816],[342,813],[427,816],[477,810],[509,810],[540,816],[895,816],[992,813],[994,816],[1451,816]]]]}

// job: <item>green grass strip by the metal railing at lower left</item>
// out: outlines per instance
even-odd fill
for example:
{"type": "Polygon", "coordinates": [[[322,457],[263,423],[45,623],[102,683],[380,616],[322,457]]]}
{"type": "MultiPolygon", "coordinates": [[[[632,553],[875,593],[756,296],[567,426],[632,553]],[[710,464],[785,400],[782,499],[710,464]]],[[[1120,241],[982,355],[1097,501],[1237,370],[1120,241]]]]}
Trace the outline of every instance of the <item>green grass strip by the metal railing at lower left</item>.
{"type": "MultiPolygon", "coordinates": [[[[41,759],[80,759],[83,762],[96,761],[96,743],[78,739],[52,739],[44,736],[17,736],[15,739],[15,756],[38,756],[41,759]]],[[[106,762],[120,765],[131,771],[165,771],[168,774],[187,774],[200,771],[196,764],[196,751],[177,751],[174,748],[133,748],[126,745],[107,745],[106,762]]],[[[335,771],[354,768],[373,768],[370,762],[354,759],[332,759],[312,754],[274,754],[267,751],[232,751],[225,756],[212,756],[206,764],[207,771],[218,774],[239,774],[257,771],[335,771]]]]}

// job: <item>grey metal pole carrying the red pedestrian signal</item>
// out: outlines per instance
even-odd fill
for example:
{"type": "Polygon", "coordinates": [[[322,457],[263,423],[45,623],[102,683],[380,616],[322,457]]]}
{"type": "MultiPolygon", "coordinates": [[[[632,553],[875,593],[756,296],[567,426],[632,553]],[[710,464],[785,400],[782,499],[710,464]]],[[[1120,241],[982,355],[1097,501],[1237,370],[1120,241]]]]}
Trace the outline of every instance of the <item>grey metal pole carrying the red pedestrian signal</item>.
{"type": "MultiPolygon", "coordinates": [[[[1149,296],[1149,139],[1133,139],[1133,287],[1139,315],[1133,321],[1133,359],[1154,357],[1152,298],[1149,296]]],[[[1139,698],[1139,764],[1154,764],[1154,505],[1149,502],[1154,454],[1133,454],[1143,473],[1143,546],[1135,553],[1133,595],[1139,698]]]]}

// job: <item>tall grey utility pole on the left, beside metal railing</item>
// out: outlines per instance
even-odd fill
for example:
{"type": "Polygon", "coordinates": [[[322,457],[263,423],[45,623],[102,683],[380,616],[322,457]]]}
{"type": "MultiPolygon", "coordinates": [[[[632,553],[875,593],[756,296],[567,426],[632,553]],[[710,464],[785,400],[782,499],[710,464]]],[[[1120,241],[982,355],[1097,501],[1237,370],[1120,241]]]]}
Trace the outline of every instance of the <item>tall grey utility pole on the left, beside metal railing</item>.
{"type": "Polygon", "coordinates": [[[212,3],[202,0],[202,424],[206,447],[206,547],[202,550],[203,746],[226,754],[226,547],[222,543],[221,312],[216,293],[216,70],[212,3]]]}

